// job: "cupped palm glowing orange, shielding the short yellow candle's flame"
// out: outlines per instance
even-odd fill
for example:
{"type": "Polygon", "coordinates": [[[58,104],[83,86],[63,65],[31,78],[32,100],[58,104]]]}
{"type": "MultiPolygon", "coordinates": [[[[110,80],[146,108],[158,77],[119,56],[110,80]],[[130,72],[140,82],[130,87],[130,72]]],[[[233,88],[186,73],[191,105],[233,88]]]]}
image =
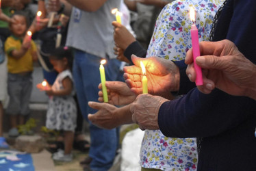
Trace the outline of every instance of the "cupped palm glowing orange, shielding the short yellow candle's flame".
{"type": "Polygon", "coordinates": [[[142,70],[140,61],[146,68],[149,94],[170,98],[170,92],[179,90],[179,68],[171,61],[160,57],[140,58],[131,56],[134,66],[124,68],[125,82],[136,94],[142,93],[142,70]]]}

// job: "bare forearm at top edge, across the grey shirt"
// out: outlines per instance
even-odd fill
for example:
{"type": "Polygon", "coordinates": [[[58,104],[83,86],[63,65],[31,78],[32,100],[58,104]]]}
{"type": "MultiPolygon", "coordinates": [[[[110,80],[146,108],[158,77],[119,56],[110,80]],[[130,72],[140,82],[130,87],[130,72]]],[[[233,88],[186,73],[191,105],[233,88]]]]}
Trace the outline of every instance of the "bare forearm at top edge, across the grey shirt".
{"type": "Polygon", "coordinates": [[[107,0],[66,0],[71,5],[86,12],[96,12],[107,0]]]}

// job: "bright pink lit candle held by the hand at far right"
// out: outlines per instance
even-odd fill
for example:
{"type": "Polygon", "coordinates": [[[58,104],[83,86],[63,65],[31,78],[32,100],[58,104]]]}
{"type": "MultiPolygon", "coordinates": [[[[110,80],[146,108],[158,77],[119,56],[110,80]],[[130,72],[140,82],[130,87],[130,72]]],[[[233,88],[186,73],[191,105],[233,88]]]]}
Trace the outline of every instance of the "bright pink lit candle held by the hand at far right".
{"type": "Polygon", "coordinates": [[[194,8],[190,8],[190,20],[193,22],[191,26],[190,34],[192,39],[194,70],[196,71],[196,86],[200,86],[200,85],[203,85],[203,75],[202,75],[201,67],[196,64],[196,57],[200,56],[200,48],[199,48],[199,30],[194,24],[196,21],[194,8]]]}

